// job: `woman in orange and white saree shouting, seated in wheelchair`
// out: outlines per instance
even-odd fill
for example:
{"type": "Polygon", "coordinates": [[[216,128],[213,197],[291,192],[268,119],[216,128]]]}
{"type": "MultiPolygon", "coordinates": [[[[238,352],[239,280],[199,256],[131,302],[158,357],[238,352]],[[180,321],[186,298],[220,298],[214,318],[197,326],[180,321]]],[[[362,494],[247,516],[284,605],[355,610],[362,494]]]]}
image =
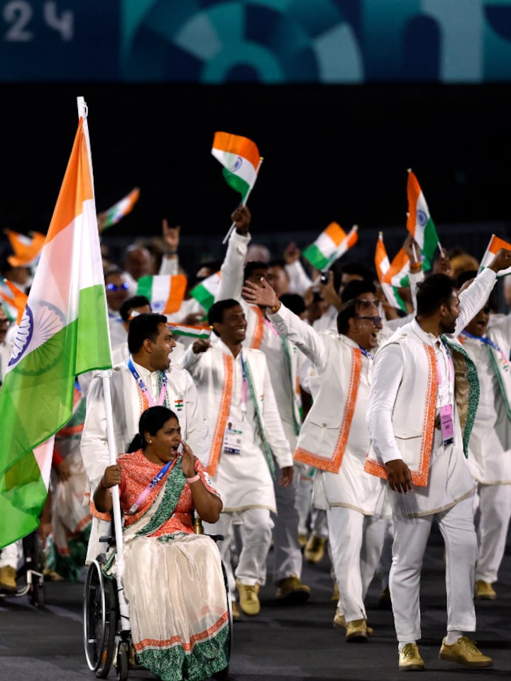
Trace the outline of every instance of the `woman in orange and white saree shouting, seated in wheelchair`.
{"type": "Polygon", "coordinates": [[[229,665],[229,614],[219,551],[194,534],[192,511],[214,523],[222,502],[170,409],[144,411],[133,443],[94,494],[97,509],[110,511],[109,488],[119,485],[133,646],[156,677],[202,681],[229,665]]]}

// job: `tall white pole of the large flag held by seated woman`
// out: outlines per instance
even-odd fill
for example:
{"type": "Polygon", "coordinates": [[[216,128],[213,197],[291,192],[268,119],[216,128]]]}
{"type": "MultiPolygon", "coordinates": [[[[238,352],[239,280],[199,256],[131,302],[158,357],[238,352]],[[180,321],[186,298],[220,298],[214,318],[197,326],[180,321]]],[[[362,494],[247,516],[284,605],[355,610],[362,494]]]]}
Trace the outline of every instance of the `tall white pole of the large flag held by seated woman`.
{"type": "MultiPolygon", "coordinates": [[[[85,140],[87,143],[87,153],[89,155],[89,165],[91,177],[94,177],[92,173],[92,157],[90,152],[90,140],[89,140],[89,126],[87,125],[87,104],[83,97],[77,97],[77,107],[78,107],[78,118],[83,118],[83,129],[85,140]]],[[[92,181],[92,191],[94,192],[94,179],[92,181]]],[[[105,310],[106,310],[106,295],[105,295],[105,310]]],[[[108,323],[108,318],[106,319],[106,329],[109,335],[109,345],[111,348],[110,340],[110,327],[108,323]]],[[[104,404],[105,404],[105,417],[106,417],[106,438],[108,441],[109,449],[109,465],[115,465],[117,463],[117,455],[119,452],[115,450],[114,441],[114,416],[112,414],[111,406],[111,390],[110,390],[110,377],[111,369],[101,370],[100,372],[101,381],[103,384],[103,394],[104,394],[104,404]]],[[[119,485],[114,485],[111,488],[112,495],[112,515],[114,516],[114,528],[116,537],[116,580],[117,584],[121,585],[121,578],[124,572],[124,546],[123,546],[123,533],[122,533],[122,521],[121,521],[121,500],[119,498],[119,485]]],[[[119,597],[119,614],[121,616],[121,631],[128,631],[129,625],[129,614],[128,605],[126,604],[126,599],[124,599],[124,592],[122,588],[118,590],[119,597]]]]}

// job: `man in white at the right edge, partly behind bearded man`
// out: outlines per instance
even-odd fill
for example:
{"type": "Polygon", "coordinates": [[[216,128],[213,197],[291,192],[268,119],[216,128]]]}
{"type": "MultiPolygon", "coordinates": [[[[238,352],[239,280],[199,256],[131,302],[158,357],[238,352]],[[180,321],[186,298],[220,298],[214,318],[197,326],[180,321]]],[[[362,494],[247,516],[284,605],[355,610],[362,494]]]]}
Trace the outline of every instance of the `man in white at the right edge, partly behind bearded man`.
{"type": "MultiPolygon", "coordinates": [[[[462,276],[470,286],[476,275],[462,276]]],[[[480,385],[468,467],[478,486],[476,598],[485,600],[497,597],[492,584],[497,581],[511,516],[511,315],[491,311],[486,304],[459,337],[478,367],[480,385]]]]}

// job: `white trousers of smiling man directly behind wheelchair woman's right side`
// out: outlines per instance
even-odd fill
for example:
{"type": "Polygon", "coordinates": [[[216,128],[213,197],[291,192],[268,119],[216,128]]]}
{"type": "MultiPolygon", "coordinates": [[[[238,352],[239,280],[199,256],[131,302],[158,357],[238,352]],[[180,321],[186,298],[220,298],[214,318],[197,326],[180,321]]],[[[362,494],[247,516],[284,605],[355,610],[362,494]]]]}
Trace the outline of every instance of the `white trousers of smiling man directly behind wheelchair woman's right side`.
{"type": "Polygon", "coordinates": [[[223,534],[218,548],[229,580],[231,598],[234,597],[236,582],[241,584],[264,585],[266,582],[266,558],[270,550],[273,522],[268,509],[246,509],[233,513],[221,513],[219,520],[211,525],[203,523],[207,534],[223,534]],[[234,541],[234,526],[239,526],[241,551],[236,571],[231,565],[231,544],[234,541]]]}

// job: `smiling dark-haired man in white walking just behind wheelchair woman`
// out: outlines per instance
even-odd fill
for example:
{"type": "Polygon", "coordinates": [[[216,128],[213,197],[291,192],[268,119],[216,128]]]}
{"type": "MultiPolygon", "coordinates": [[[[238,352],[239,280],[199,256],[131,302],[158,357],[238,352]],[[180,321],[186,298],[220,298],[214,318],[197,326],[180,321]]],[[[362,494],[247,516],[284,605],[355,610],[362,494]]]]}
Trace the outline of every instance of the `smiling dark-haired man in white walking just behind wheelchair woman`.
{"type": "MultiPolygon", "coordinates": [[[[231,599],[238,590],[241,610],[260,611],[258,590],[265,584],[266,558],[275,512],[273,480],[280,487],[292,482],[292,454],[285,438],[264,353],[244,348],[247,322],[234,299],[217,301],[208,321],[219,341],[196,341],[183,357],[183,366],[197,384],[210,423],[206,465],[211,484],[224,502],[215,532],[224,535],[220,551],[229,576],[231,599]],[[275,472],[273,457],[281,473],[275,472]],[[236,582],[230,546],[234,525],[241,533],[236,582]]],[[[233,615],[238,618],[237,607],[233,615]]]]}

